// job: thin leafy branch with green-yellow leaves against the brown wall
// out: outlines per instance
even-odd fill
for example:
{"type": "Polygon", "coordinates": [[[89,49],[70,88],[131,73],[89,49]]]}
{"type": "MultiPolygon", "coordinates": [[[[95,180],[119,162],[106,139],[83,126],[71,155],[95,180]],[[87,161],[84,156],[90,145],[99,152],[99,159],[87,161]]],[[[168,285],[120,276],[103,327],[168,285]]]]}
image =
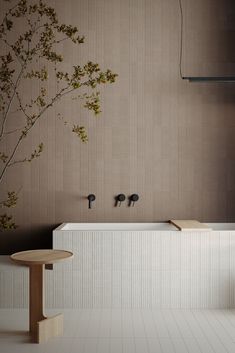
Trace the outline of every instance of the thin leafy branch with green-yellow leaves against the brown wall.
{"type": "MultiPolygon", "coordinates": [[[[55,10],[42,0],[18,0],[6,12],[0,24],[0,41],[8,49],[7,54],[0,56],[0,143],[8,135],[14,136],[15,142],[10,151],[4,151],[2,145],[0,152],[0,183],[3,181],[9,168],[16,164],[31,162],[41,156],[43,143],[41,142],[29,157],[17,158],[17,153],[25,138],[30,134],[36,123],[45,112],[54,106],[66,95],[78,90],[88,90],[78,94],[77,99],[84,101],[83,107],[91,110],[95,115],[101,112],[100,96],[96,91],[101,84],[113,83],[117,74],[111,70],[102,71],[99,64],[88,61],[85,65],[74,65],[72,73],[60,70],[63,56],[57,52],[56,45],[63,41],[70,41],[73,45],[84,43],[76,26],[60,23],[55,10]],[[19,21],[22,26],[19,27],[19,21]],[[19,28],[24,28],[18,33],[19,28]],[[15,34],[15,41],[12,33],[15,34]],[[11,35],[10,35],[11,34],[11,35]],[[38,63],[43,64],[38,68],[38,63]],[[37,69],[34,69],[34,64],[37,69]],[[49,66],[54,67],[54,76],[58,90],[50,96],[45,87],[41,87],[38,96],[29,101],[23,95],[23,84],[26,80],[39,80],[42,84],[49,78],[49,66]],[[91,92],[89,92],[91,90],[91,92]],[[16,106],[15,113],[24,117],[21,129],[7,131],[8,119],[12,116],[11,107],[16,106]]],[[[9,3],[11,1],[8,0],[9,3]]],[[[84,126],[73,124],[72,132],[82,142],[87,142],[88,136],[84,126]]],[[[13,207],[18,196],[14,191],[8,192],[6,200],[0,201],[1,208],[13,207]]],[[[12,216],[0,215],[0,230],[15,228],[12,216]]]]}

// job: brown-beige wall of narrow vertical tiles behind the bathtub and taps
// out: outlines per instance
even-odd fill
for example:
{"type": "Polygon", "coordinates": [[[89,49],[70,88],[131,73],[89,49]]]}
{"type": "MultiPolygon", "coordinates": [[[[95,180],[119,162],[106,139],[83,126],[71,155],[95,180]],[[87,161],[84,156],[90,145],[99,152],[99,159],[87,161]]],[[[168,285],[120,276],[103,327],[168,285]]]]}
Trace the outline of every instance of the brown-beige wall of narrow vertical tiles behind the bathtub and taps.
{"type": "MultiPolygon", "coordinates": [[[[190,2],[182,1],[185,19],[192,17],[190,2]]],[[[2,252],[49,246],[51,229],[68,221],[234,220],[235,87],[180,79],[178,1],[49,3],[63,21],[77,25],[86,37],[79,48],[62,47],[64,68],[90,59],[112,68],[119,77],[117,83],[101,89],[99,117],[65,99],[48,111],[27,138],[19,157],[31,153],[41,141],[45,151],[38,160],[16,166],[7,175],[7,190],[22,189],[14,210],[19,228],[1,236],[2,252]],[[56,118],[58,112],[87,127],[88,144],[63,126],[56,118]],[[120,192],[138,193],[140,200],[132,208],[115,208],[114,196],[120,192]],[[89,193],[97,197],[92,210],[85,199],[89,193]]],[[[209,16],[210,11],[203,7],[206,1],[198,3],[203,16],[209,16]]],[[[221,36],[233,23],[226,26],[223,19],[221,36]]],[[[185,25],[195,23],[190,21],[185,20],[185,25]]],[[[210,16],[208,23],[212,25],[210,16]]],[[[184,42],[183,70],[187,74],[190,65],[197,65],[189,55],[190,48],[196,48],[193,42],[198,45],[192,31],[191,26],[187,32],[191,37],[184,42]]],[[[231,67],[233,63],[225,59],[218,60],[231,67]]],[[[209,65],[198,60],[200,67],[209,65]]],[[[49,81],[52,91],[54,86],[49,81]]],[[[34,90],[37,87],[30,87],[25,94],[34,90]]]]}

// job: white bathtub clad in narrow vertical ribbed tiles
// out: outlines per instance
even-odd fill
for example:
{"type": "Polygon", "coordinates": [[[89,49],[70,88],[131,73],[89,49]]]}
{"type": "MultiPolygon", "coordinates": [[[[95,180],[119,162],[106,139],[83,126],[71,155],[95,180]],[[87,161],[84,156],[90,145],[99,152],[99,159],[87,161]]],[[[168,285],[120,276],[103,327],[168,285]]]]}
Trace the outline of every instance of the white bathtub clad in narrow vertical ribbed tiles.
{"type": "Polygon", "coordinates": [[[55,268],[62,288],[49,307],[235,307],[235,224],[179,231],[169,223],[63,223],[53,248],[71,250],[55,268]],[[63,290],[64,288],[64,290],[63,290]]]}

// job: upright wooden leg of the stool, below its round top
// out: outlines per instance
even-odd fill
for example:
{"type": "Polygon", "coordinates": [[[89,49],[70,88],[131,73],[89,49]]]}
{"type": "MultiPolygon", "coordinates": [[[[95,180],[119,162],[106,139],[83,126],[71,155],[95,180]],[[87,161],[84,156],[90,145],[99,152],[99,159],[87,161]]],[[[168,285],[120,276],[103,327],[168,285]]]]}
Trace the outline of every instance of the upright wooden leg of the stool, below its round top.
{"type": "Polygon", "coordinates": [[[37,334],[38,321],[45,319],[43,272],[44,265],[33,265],[29,268],[29,325],[32,335],[37,334]]]}

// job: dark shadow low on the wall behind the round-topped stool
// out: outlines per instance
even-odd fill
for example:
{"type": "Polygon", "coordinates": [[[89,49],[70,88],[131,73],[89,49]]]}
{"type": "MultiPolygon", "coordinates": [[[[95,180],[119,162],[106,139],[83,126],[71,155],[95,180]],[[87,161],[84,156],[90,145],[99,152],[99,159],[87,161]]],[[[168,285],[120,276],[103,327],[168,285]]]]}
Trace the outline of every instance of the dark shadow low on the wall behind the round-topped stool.
{"type": "Polygon", "coordinates": [[[59,224],[36,226],[33,230],[19,229],[6,231],[0,236],[0,255],[11,255],[17,251],[51,249],[52,231],[59,224]]]}

